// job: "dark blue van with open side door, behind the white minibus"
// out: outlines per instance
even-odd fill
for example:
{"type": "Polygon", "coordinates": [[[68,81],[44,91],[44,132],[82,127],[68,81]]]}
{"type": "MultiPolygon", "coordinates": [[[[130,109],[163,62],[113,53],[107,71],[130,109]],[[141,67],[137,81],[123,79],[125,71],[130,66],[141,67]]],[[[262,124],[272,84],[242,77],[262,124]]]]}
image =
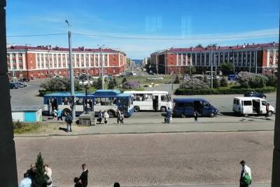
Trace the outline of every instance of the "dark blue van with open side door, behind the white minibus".
{"type": "Polygon", "coordinates": [[[174,117],[194,116],[194,112],[200,116],[213,118],[217,115],[218,109],[212,106],[207,100],[200,98],[176,98],[173,99],[174,117]]]}

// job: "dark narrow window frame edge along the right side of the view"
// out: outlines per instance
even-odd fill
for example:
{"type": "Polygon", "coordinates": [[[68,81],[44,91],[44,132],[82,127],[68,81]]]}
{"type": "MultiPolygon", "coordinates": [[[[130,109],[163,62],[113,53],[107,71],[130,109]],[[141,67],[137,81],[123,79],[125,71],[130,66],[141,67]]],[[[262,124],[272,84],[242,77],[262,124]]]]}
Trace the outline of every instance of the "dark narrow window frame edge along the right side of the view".
{"type": "MultiPolygon", "coordinates": [[[[280,34],[280,29],[279,29],[280,34]]],[[[279,38],[280,43],[280,38],[279,38]]],[[[278,46],[280,51],[280,46],[278,46]]],[[[278,65],[278,71],[280,67],[278,65]]],[[[277,74],[277,90],[276,90],[276,108],[280,107],[280,76],[277,74]]],[[[280,110],[276,110],[275,127],[274,127],[274,151],[272,163],[272,187],[280,186],[280,110]]]]}

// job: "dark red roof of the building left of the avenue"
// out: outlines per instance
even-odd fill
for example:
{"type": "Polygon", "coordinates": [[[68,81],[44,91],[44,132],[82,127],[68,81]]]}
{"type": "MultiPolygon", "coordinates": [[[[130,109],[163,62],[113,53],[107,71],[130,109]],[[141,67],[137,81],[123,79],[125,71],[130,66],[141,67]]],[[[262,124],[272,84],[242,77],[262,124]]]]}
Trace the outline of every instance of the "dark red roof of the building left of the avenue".
{"type": "MultiPolygon", "coordinates": [[[[68,51],[68,48],[60,48],[60,47],[49,47],[49,46],[7,46],[8,50],[50,50],[50,51],[68,51]]],[[[73,52],[92,52],[92,53],[101,53],[100,48],[85,48],[85,47],[79,47],[79,48],[72,48],[73,52]]],[[[110,48],[103,48],[103,53],[122,53],[125,55],[123,51],[120,50],[113,50],[110,48]]]]}

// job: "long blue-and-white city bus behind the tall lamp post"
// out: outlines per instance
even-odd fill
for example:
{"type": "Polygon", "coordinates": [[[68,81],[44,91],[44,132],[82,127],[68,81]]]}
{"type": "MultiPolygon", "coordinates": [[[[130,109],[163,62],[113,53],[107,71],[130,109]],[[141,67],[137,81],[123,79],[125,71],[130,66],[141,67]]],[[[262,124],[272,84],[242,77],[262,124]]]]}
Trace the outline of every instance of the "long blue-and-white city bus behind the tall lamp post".
{"type": "MultiPolygon", "coordinates": [[[[94,111],[96,114],[99,110],[107,111],[110,117],[116,117],[116,110],[123,111],[125,117],[130,117],[134,113],[133,95],[121,93],[120,90],[96,90],[87,94],[75,94],[76,114],[87,111],[94,111]]],[[[44,95],[44,111],[50,114],[53,109],[62,109],[63,113],[71,111],[71,94],[70,92],[54,92],[44,95]]]]}

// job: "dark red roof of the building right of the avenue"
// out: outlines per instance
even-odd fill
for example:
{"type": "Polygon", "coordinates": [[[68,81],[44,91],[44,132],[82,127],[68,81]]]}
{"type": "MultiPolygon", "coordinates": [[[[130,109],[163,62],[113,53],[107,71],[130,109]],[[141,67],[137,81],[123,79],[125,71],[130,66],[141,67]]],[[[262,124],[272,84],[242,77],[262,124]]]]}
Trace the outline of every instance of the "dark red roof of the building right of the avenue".
{"type": "MultiPolygon", "coordinates": [[[[237,45],[237,46],[217,46],[213,47],[212,50],[238,50],[238,49],[243,49],[243,48],[268,48],[268,47],[275,47],[278,48],[279,43],[253,43],[253,44],[248,44],[244,43],[243,45],[237,45]]],[[[167,52],[167,53],[183,53],[183,52],[193,52],[193,51],[202,51],[202,50],[211,50],[211,47],[190,47],[190,48],[169,48],[167,50],[161,50],[155,53],[162,53],[162,52],[167,52]]],[[[155,54],[154,53],[154,54],[155,54]]]]}

